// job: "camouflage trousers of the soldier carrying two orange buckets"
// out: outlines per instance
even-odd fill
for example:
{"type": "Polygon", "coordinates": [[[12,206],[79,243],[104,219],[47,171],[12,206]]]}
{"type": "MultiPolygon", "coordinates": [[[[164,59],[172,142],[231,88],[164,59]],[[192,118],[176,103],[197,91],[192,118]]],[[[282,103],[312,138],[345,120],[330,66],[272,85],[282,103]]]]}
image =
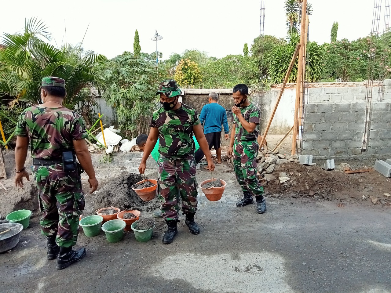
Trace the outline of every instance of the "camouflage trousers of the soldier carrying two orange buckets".
{"type": "Polygon", "coordinates": [[[197,211],[197,180],[195,179],[194,155],[186,159],[158,159],[158,197],[161,201],[163,219],[178,220],[178,191],[185,214],[197,211]]]}

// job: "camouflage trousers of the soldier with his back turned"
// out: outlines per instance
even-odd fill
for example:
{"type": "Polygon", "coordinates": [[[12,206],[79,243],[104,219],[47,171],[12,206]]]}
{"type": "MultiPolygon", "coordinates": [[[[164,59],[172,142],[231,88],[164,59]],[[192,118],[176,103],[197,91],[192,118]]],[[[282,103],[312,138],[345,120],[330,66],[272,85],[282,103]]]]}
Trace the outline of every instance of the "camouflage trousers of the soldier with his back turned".
{"type": "Polygon", "coordinates": [[[34,166],[45,236],[56,235],[60,247],[72,247],[79,233],[79,216],[84,210],[84,193],[78,170],[64,172],[63,165],[34,166]]]}

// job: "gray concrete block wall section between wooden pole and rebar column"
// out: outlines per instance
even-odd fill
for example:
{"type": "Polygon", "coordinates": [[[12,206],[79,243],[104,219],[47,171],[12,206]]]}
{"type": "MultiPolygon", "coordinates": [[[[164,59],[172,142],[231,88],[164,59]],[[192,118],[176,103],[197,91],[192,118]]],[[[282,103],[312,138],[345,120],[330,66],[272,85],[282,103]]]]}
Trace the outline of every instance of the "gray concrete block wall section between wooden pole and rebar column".
{"type": "Polygon", "coordinates": [[[365,104],[305,105],[303,154],[359,155],[365,104]]]}

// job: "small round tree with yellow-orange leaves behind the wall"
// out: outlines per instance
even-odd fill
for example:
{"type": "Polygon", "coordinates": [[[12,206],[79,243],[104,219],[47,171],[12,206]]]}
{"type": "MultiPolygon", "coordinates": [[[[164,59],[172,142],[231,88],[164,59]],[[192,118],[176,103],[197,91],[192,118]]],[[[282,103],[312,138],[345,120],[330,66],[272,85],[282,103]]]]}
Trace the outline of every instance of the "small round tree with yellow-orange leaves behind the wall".
{"type": "Polygon", "coordinates": [[[174,79],[181,86],[199,84],[202,81],[202,75],[198,64],[187,58],[181,59],[176,66],[174,79]]]}

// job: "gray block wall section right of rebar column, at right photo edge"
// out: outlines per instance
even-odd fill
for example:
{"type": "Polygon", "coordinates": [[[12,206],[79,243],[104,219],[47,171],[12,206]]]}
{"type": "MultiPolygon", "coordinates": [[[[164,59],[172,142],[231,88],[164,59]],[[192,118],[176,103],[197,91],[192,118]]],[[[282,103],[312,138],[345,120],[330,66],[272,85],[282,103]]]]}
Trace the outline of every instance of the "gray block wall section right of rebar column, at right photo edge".
{"type": "Polygon", "coordinates": [[[368,154],[391,154],[391,103],[373,103],[368,154]]]}

